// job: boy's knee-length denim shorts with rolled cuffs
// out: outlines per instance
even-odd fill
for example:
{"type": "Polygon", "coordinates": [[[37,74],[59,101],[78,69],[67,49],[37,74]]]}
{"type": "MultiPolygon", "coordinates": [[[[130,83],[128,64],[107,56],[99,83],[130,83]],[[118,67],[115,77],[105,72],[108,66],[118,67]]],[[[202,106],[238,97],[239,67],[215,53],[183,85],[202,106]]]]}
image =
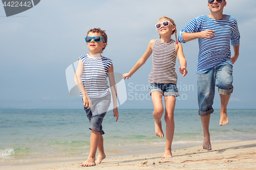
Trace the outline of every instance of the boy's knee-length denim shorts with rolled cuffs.
{"type": "Polygon", "coordinates": [[[84,110],[86,111],[87,117],[90,121],[90,130],[96,130],[100,132],[100,135],[105,134],[102,130],[102,121],[104,116],[106,115],[106,111],[108,111],[111,103],[111,93],[104,95],[101,98],[90,98],[92,101],[92,106],[90,109],[84,106],[84,110]]]}

